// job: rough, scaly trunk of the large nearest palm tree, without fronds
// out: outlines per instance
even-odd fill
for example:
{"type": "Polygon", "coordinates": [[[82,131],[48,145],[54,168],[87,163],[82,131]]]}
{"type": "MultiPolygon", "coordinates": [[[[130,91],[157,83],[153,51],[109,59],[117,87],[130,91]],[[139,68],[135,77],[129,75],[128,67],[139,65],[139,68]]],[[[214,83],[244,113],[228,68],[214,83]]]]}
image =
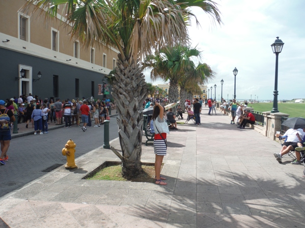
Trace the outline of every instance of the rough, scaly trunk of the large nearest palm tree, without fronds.
{"type": "Polygon", "coordinates": [[[122,175],[130,179],[142,173],[142,104],[147,95],[145,76],[140,65],[118,55],[113,97],[117,105],[117,123],[122,149],[122,175]]]}

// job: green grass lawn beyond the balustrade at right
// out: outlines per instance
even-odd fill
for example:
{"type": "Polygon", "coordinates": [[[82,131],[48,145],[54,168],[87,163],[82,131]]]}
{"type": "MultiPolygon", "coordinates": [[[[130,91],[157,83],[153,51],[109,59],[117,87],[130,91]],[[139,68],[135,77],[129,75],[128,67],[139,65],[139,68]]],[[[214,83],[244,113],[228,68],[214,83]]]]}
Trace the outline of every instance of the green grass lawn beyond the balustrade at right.
{"type": "MultiPolygon", "coordinates": [[[[266,112],[272,110],[273,103],[256,103],[248,104],[248,107],[254,108],[254,111],[266,112]]],[[[278,109],[282,113],[287,113],[289,117],[303,117],[305,118],[305,103],[278,103],[278,109]]]]}

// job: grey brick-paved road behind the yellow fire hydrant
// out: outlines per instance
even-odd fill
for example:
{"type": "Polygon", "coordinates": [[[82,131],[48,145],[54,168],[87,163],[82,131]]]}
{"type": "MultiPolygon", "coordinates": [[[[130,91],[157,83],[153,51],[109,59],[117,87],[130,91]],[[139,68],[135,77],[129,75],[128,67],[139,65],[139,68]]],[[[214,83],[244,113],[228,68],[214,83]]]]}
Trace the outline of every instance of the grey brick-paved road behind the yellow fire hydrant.
{"type": "MultiPolygon", "coordinates": [[[[104,143],[104,125],[87,127],[59,128],[45,135],[30,135],[11,140],[7,165],[0,166],[0,197],[22,187],[43,175],[42,172],[56,164],[66,164],[62,149],[69,139],[76,144],[75,158],[96,149],[104,143]]],[[[109,123],[109,139],[119,136],[116,118],[109,123]]],[[[76,164],[77,165],[77,164],[76,164]]]]}

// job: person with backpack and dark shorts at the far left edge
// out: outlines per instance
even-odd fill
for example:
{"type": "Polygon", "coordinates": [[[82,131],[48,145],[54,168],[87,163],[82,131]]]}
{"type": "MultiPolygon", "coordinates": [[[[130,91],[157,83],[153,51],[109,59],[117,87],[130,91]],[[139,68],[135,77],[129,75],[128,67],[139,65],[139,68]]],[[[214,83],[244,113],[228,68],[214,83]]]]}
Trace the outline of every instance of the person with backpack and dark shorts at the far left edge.
{"type": "Polygon", "coordinates": [[[5,108],[5,102],[0,100],[0,144],[1,155],[0,164],[6,165],[6,161],[9,160],[7,151],[10,147],[11,140],[11,127],[10,121],[15,121],[14,113],[11,110],[5,108]]]}

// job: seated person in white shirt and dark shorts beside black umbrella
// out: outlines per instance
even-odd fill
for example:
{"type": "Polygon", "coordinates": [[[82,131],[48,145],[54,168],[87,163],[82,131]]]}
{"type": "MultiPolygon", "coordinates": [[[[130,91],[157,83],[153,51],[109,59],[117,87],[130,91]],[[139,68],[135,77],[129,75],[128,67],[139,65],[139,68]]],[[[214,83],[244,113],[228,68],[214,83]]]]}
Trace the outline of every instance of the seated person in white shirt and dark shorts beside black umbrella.
{"type": "Polygon", "coordinates": [[[282,163],[282,156],[289,153],[289,151],[294,151],[296,147],[298,147],[297,143],[299,142],[299,138],[297,134],[302,138],[304,136],[304,132],[301,128],[299,129],[288,129],[287,132],[284,134],[283,138],[287,137],[287,140],[282,145],[282,150],[280,153],[273,153],[274,157],[277,161],[282,163]]]}

